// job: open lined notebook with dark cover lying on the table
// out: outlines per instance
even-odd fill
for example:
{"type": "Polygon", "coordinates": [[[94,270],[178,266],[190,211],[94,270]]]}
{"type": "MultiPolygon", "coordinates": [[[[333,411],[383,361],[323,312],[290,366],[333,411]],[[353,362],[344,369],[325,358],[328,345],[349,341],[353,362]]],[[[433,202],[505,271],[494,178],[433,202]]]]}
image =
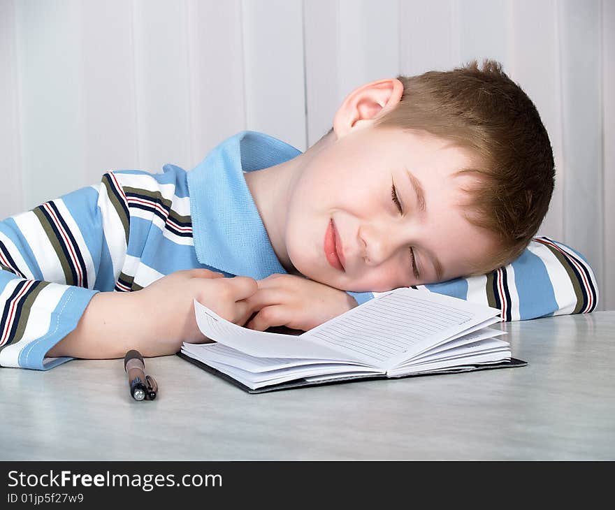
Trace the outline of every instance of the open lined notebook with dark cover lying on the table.
{"type": "Polygon", "coordinates": [[[301,335],[237,326],[194,302],[210,344],[178,356],[249,393],[341,381],[526,365],[511,357],[498,309],[428,291],[384,293],[301,335]]]}

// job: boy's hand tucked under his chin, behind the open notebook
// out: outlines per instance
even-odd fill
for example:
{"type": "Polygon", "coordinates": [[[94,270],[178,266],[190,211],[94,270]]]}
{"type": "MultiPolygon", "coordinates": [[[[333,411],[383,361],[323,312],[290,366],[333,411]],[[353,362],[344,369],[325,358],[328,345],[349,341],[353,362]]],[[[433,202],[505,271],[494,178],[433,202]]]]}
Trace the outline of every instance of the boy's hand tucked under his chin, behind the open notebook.
{"type": "Polygon", "coordinates": [[[256,315],[246,328],[271,326],[307,331],[357,306],[345,291],[296,275],[270,275],[258,280],[259,290],[245,301],[256,315]]]}

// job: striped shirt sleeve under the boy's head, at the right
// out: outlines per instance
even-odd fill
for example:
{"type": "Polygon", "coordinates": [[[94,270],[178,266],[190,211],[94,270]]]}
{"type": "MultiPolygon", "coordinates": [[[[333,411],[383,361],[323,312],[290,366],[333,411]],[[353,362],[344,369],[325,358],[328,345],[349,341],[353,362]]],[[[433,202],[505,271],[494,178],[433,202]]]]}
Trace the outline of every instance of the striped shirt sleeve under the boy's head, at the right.
{"type": "MultiPolygon", "coordinates": [[[[515,261],[487,275],[415,288],[498,308],[502,322],[586,314],[593,312],[599,297],[595,274],[586,258],[544,236],[534,238],[515,261]]],[[[359,296],[365,302],[381,294],[359,296]]]]}

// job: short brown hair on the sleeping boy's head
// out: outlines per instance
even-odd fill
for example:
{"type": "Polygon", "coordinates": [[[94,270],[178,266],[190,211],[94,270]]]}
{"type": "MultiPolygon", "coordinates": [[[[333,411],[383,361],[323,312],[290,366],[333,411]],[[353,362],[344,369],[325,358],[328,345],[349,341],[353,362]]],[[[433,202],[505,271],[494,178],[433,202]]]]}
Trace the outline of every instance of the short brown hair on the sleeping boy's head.
{"type": "Polygon", "coordinates": [[[521,255],[544,219],[554,189],[549,135],[530,98],[496,61],[476,61],[447,73],[398,77],[404,96],[377,125],[424,129],[476,156],[468,219],[498,238],[488,272],[521,255]],[[414,97],[414,99],[410,99],[414,97]]]}

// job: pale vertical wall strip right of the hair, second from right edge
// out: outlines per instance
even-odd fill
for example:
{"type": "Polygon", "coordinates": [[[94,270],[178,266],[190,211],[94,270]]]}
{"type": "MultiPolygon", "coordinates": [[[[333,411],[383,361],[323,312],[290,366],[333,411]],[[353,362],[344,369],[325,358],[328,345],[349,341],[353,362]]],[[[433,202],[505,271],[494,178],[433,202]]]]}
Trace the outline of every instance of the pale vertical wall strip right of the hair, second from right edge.
{"type": "Polygon", "coordinates": [[[583,247],[603,276],[600,1],[566,0],[560,7],[563,239],[583,247]]]}

